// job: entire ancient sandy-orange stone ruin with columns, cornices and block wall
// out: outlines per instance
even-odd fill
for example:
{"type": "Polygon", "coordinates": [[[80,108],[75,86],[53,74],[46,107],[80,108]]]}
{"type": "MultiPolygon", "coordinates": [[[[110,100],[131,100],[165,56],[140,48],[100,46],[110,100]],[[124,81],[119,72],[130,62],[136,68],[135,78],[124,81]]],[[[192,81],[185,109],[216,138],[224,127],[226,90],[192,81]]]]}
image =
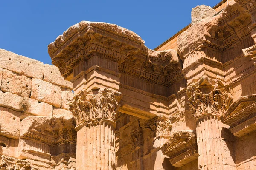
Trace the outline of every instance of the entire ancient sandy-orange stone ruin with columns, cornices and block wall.
{"type": "Polygon", "coordinates": [[[256,0],[197,6],[155,50],[81,21],[53,65],[0,50],[0,170],[256,170],[256,0]]]}

